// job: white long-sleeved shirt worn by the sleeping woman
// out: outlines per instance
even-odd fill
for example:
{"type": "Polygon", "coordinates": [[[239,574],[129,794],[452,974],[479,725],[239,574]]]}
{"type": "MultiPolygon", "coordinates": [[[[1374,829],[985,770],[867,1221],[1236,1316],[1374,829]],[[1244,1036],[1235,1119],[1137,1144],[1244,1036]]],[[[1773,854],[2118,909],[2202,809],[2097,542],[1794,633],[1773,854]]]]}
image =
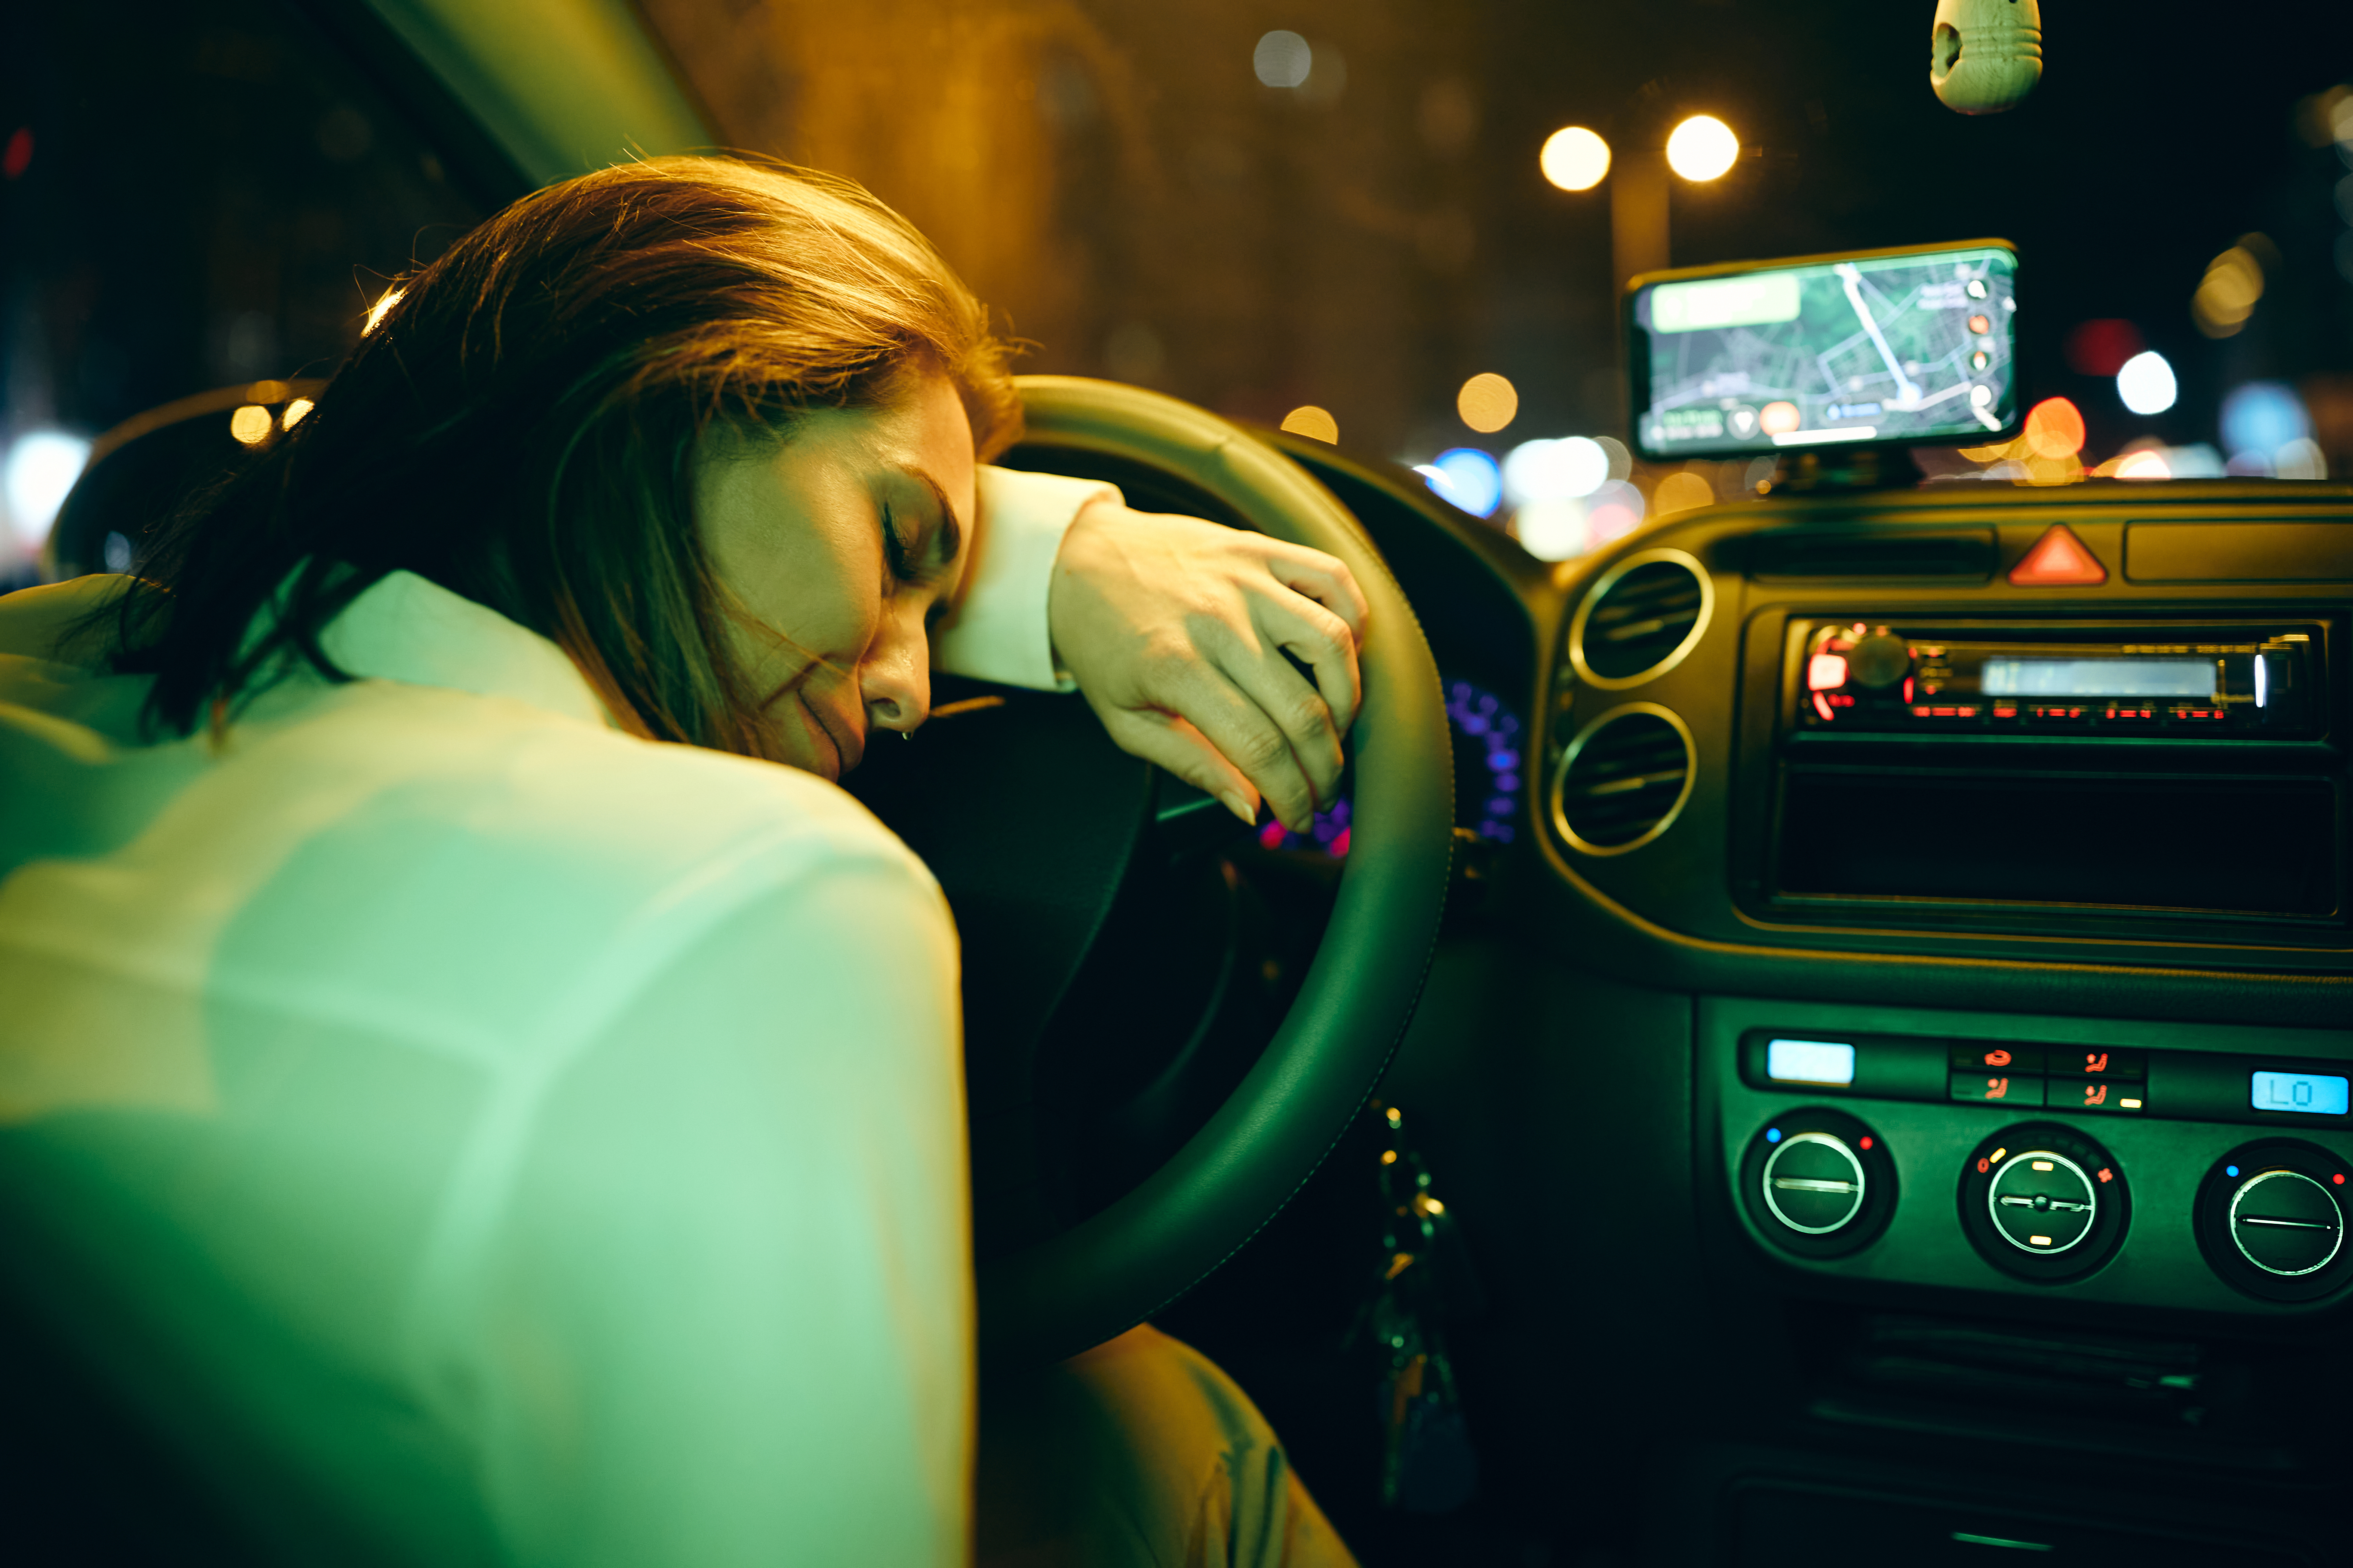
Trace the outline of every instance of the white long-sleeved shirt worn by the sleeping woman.
{"type": "MultiPolygon", "coordinates": [[[[1106,487],[984,470],[1052,686],[1106,487]]],[[[835,785],[393,574],[214,748],[0,599],[0,1272],[306,1563],[962,1563],[955,931],[835,785]]]]}

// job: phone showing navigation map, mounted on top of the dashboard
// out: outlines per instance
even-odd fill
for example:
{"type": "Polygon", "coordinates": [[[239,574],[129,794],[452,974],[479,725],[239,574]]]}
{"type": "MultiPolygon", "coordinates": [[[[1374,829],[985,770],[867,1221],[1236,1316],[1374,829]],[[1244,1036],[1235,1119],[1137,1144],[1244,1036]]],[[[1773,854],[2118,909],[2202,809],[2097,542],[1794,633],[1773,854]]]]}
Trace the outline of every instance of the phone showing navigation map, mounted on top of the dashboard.
{"type": "Polygon", "coordinates": [[[2014,418],[2000,247],[1657,282],[1635,294],[1647,456],[1986,437],[2014,418]]]}

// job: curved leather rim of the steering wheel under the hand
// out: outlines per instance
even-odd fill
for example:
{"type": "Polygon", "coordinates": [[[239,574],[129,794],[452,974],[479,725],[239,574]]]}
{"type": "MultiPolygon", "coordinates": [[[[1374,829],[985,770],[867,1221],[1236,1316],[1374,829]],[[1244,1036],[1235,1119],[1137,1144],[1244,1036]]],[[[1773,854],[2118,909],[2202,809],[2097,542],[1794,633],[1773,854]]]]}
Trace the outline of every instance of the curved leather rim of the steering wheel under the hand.
{"type": "Polygon", "coordinates": [[[1021,376],[1024,447],[1115,456],[1195,484],[1365,590],[1348,863],[1299,994],[1226,1103],[1132,1192],[979,1269],[981,1352],[1059,1359],[1146,1321],[1254,1237],[1374,1091],[1421,999],[1445,912],[1454,766],[1412,604],[1355,517],[1280,451],[1188,402],[1021,376]]]}

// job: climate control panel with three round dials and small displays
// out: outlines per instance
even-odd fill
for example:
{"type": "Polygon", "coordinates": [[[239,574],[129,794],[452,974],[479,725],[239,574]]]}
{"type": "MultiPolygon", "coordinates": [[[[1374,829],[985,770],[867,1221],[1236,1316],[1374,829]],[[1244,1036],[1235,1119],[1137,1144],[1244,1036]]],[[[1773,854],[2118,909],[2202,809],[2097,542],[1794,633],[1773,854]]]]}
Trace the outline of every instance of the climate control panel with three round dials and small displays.
{"type": "Polygon", "coordinates": [[[1706,999],[1729,1211],[1817,1284],[2297,1316],[2353,1284],[2353,1034],[1706,999]]]}

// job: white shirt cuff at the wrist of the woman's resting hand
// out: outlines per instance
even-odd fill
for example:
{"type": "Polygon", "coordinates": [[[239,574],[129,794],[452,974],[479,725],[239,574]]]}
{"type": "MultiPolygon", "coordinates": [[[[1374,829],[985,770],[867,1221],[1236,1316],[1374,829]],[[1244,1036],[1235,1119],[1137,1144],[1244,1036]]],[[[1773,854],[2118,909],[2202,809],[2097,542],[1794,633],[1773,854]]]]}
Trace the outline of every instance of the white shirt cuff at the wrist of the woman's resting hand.
{"type": "Polygon", "coordinates": [[[1054,668],[1047,595],[1061,536],[1089,501],[1101,498],[1122,501],[1120,487],[984,463],[981,527],[965,567],[965,599],[932,632],[932,663],[1000,686],[1073,691],[1075,682],[1054,668]]]}

